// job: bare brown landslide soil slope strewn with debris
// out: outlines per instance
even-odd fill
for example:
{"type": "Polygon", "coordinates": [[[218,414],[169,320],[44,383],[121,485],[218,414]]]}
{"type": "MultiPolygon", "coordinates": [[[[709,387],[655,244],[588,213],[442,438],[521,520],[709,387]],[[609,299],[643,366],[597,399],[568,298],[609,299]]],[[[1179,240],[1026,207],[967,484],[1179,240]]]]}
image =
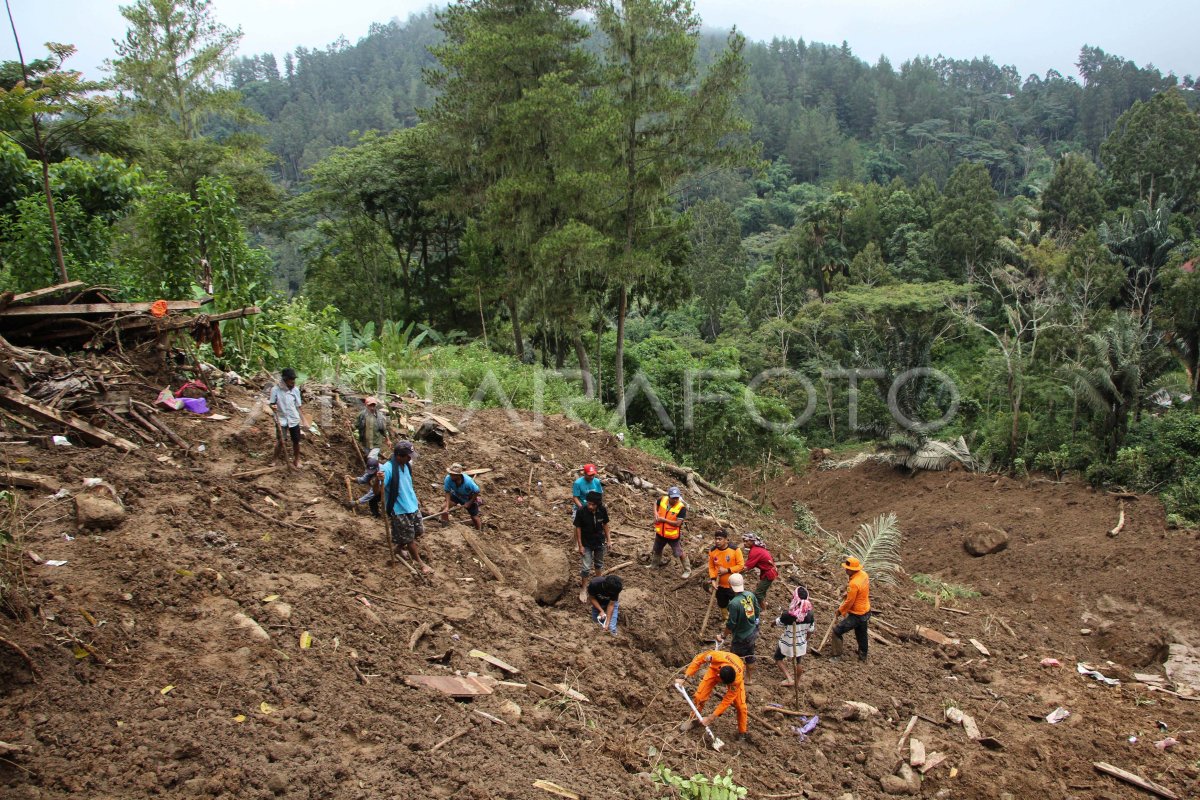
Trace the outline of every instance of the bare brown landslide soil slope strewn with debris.
{"type": "MultiPolygon", "coordinates": [[[[890,644],[875,645],[866,664],[809,660],[800,710],[820,712],[821,723],[803,742],[791,717],[764,711],[793,703],[769,663],[774,633],[764,632],[750,686],[754,739],[734,745],[726,715],[716,730],[731,744],[714,753],[676,732],[685,711],[665,690],[701,648],[707,594],[698,577],[684,582],[677,567],[652,571],[640,561],[652,539],[650,493],[606,486],[617,531],[610,565],[623,565],[626,583],[620,634],[605,636],[576,596],[572,470],[595,462],[608,476],[624,469],[659,487],[677,479],[612,435],[563,419],[481,411],[464,420],[461,409],[436,409],[463,433],[445,447],[419,445],[418,493],[432,510],[448,464],[491,468],[480,477],[480,540],[504,579],[474,557],[457,523],[436,522],[425,541],[437,573],[425,579],[390,565],[382,523],[346,507],[342,476],[359,467],[353,410],[334,397],[320,409],[312,395],[322,435],[306,438],[296,473],[235,476],[264,465],[274,444],[270,422],[244,411],[254,396],[238,387],[214,401],[227,421],[172,417],[193,445],[191,457],[162,447],[127,456],[4,449],[7,467],[54,475],[72,489],[86,477],[107,480],[128,511],[114,530],[78,530],[70,499],[18,491],[22,547],[67,564],[22,557],[23,591],[8,596],[28,597],[28,616],[0,618],[0,636],[38,669],[31,674],[0,644],[0,740],[28,747],[0,760],[4,796],[523,799],[552,796],[533,787],[545,780],[586,798],[659,798],[666,792],[643,774],[662,763],[686,774],[732,769],[752,798],[875,798],[900,762],[896,742],[914,714],[929,721],[918,721],[913,735],[948,756],[925,776],[923,796],[1141,796],[1094,774],[1092,760],[1141,771],[1181,796],[1198,790],[1196,704],[1129,681],[1103,687],[1073,670],[1076,657],[1147,663],[1166,639],[1192,634],[1195,541],[1166,534],[1150,499],[1129,504],[1129,525],[1109,541],[1103,531],[1115,501],[1079,487],[997,487],[962,474],[908,480],[875,467],[772,487],[781,510],[806,501],[842,530],[894,510],[910,534],[910,572],[937,572],[986,594],[959,603],[971,614],[958,615],[916,601],[911,583],[878,587],[875,603],[890,627],[875,628],[890,644]],[[200,443],[204,452],[196,452],[200,443]],[[979,517],[985,495],[1003,498],[991,521],[1014,543],[973,561],[961,553],[959,528],[979,517]],[[952,507],[958,516],[948,516],[952,507]],[[257,620],[270,639],[254,638],[236,614],[257,620]],[[1081,638],[1085,622],[1103,636],[1081,638]],[[910,633],[918,624],[964,644],[978,638],[991,657],[970,645],[935,648],[910,633]],[[422,626],[427,633],[414,643],[422,626]],[[473,649],[521,674],[472,657],[473,649]],[[1038,667],[1048,655],[1066,668],[1038,667]],[[588,702],[504,685],[467,702],[404,682],[456,670],[565,684],[588,702]],[[846,699],[881,712],[842,721],[846,699]],[[940,723],[948,704],[974,715],[1003,748],[940,723]],[[1030,718],[1057,705],[1072,711],[1057,726],[1030,718]],[[1158,721],[1182,744],[1156,750],[1158,721]]],[[[772,521],[712,494],[689,501],[694,558],[718,521],[762,531],[776,558],[792,563],[790,579],[812,589],[823,632],[844,579],[814,559],[812,542],[778,522],[786,512],[772,521]]],[[[782,597],[772,590],[772,618],[782,597]]]]}

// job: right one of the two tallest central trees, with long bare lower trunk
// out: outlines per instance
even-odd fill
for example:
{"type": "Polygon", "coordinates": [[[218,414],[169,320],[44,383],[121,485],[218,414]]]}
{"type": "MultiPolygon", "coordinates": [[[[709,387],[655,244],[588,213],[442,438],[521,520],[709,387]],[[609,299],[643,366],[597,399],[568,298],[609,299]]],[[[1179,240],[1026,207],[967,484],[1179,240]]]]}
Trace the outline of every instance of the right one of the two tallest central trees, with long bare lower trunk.
{"type": "Polygon", "coordinates": [[[671,194],[689,173],[751,160],[737,110],[745,77],[745,38],[730,34],[725,52],[696,79],[700,17],[691,0],[601,0],[596,24],[605,35],[607,83],[619,120],[614,146],[620,199],[612,231],[619,254],[617,288],[617,408],[625,419],[625,318],[631,290],[665,271],[664,224],[671,194]]]}

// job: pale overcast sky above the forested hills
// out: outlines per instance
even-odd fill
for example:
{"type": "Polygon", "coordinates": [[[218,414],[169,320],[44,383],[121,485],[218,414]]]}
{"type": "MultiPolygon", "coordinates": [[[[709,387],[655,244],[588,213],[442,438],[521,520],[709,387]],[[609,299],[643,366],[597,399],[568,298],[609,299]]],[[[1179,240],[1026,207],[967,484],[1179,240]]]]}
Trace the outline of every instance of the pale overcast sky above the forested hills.
{"type": "MultiPolygon", "coordinates": [[[[42,43],[67,42],[79,53],[71,66],[89,77],[113,55],[125,20],[113,0],[8,0],[25,58],[42,43]]],[[[914,55],[990,55],[1024,76],[1046,70],[1075,74],[1082,44],[1154,64],[1164,72],[1200,73],[1198,0],[695,0],[707,26],[737,25],[750,40],[775,36],[841,43],[875,62],[914,55]]],[[[298,46],[323,48],[340,36],[352,43],[371,23],[406,19],[427,0],[212,0],[216,18],[244,34],[240,54],[282,55],[298,46]]],[[[16,56],[11,31],[0,36],[0,59],[16,56]]]]}

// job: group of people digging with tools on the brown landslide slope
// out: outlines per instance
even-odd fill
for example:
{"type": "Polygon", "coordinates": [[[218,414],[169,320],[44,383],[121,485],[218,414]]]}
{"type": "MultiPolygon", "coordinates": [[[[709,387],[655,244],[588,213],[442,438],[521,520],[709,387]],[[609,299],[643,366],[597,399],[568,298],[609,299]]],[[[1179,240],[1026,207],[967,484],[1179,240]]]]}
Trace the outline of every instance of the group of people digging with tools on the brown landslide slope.
{"type": "MultiPolygon", "coordinates": [[[[300,390],[295,385],[295,371],[284,369],[282,379],[271,387],[269,403],[278,423],[276,456],[283,449],[287,435],[293,443],[293,465],[300,465],[300,390]]],[[[425,533],[420,503],[413,486],[412,461],[414,446],[410,441],[397,441],[391,446],[391,457],[380,462],[380,452],[388,447],[390,429],[386,414],[379,409],[373,397],[364,398],[364,408],[356,421],[356,433],[366,456],[366,471],[355,479],[360,485],[368,485],[370,491],[358,504],[370,506],[371,513],[380,515],[379,500],[383,495],[383,513],[390,522],[390,534],[397,548],[408,552],[414,564],[422,572],[432,572],[425,563],[419,540],[425,533]]],[[[479,485],[467,475],[462,464],[451,464],[443,479],[444,501],[438,515],[443,522],[449,521],[452,507],[462,506],[470,515],[472,524],[481,529],[480,505],[482,504],[479,485]]],[[[620,577],[604,575],[605,553],[612,545],[608,527],[608,511],[604,505],[604,482],[600,480],[595,464],[584,464],[582,474],[571,486],[572,525],[575,529],[575,547],[581,559],[580,565],[580,601],[588,603],[592,619],[606,632],[617,633],[617,620],[620,614],[620,593],[624,588],[620,577]]],[[[671,487],[659,498],[654,506],[654,545],[650,551],[650,569],[661,569],[670,564],[670,557],[664,560],[664,551],[671,549],[672,557],[679,560],[684,578],[691,575],[691,561],[683,547],[682,533],[686,524],[688,506],[678,487],[671,487]]],[[[731,546],[728,533],[715,531],[713,546],[708,551],[708,578],[715,603],[721,609],[724,619],[722,634],[716,639],[716,648],[698,654],[685,670],[691,678],[701,669],[704,675],[695,693],[697,709],[703,712],[718,684],[726,686],[725,696],[708,716],[702,716],[704,726],[733,706],[738,717],[738,738],[744,738],[749,726],[745,684],[757,661],[755,655],[762,619],[762,609],[767,602],[767,593],[779,579],[779,570],[767,543],[755,533],[743,534],[742,542],[746,548],[731,546]],[[752,591],[746,591],[744,573],[757,570],[758,581],[752,591]],[[722,650],[728,640],[730,649],[722,650]]],[[[840,618],[833,628],[838,638],[836,651],[841,651],[841,638],[853,631],[858,644],[858,660],[868,658],[868,624],[871,616],[870,578],[857,558],[850,557],[842,561],[847,577],[846,597],[838,607],[840,618]]],[[[781,627],[775,645],[774,661],[784,674],[782,686],[793,686],[800,679],[800,658],[808,652],[809,634],[815,628],[815,613],[808,590],[802,585],[792,590],[787,608],[775,618],[775,626],[781,627]]],[[[676,681],[683,685],[684,679],[676,681]]],[[[689,721],[683,727],[691,727],[689,721]]]]}

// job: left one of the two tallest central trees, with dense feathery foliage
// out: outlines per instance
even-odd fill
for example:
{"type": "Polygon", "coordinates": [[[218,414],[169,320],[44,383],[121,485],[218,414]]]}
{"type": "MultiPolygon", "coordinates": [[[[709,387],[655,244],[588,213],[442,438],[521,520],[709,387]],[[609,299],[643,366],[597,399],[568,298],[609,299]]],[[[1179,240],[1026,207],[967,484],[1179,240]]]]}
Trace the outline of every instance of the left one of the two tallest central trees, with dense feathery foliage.
{"type": "Polygon", "coordinates": [[[588,228],[606,185],[605,136],[596,132],[610,118],[586,91],[595,65],[582,47],[583,7],[582,0],[454,4],[438,16],[440,66],[426,73],[440,94],[425,116],[457,178],[457,207],[474,212],[494,251],[500,273],[492,259],[478,259],[487,270],[479,277],[503,287],[521,357],[522,318],[575,325],[558,312],[584,305],[586,284],[600,275],[588,228]]]}

